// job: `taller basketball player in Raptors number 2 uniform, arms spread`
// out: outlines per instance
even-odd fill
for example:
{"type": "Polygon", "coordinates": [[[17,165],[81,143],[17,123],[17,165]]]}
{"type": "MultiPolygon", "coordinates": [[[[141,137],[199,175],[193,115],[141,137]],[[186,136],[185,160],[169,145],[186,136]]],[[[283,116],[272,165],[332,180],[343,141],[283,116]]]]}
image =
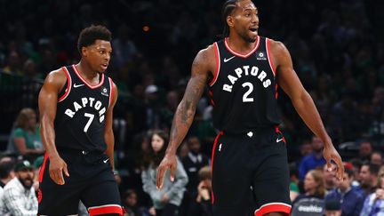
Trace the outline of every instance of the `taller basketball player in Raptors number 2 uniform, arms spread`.
{"type": "Polygon", "coordinates": [[[339,153],[324,130],[313,100],[292,68],[284,44],[258,35],[258,10],[251,0],[223,5],[226,36],[200,51],[175,113],[171,140],[158,167],[156,186],[176,168],[176,149],[192,124],[196,105],[209,85],[213,123],[220,130],[212,149],[212,203],[216,216],[289,215],[289,169],[285,140],[278,129],[277,86],[291,98],[308,127],[324,141],[328,166],[339,153]]]}

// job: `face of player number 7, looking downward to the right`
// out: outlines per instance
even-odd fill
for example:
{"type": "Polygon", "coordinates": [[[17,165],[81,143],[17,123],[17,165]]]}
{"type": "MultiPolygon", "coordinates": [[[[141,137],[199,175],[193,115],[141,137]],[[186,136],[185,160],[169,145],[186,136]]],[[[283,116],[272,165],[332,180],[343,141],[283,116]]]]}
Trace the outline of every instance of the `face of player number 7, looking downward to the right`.
{"type": "Polygon", "coordinates": [[[110,42],[96,40],[94,44],[85,48],[85,53],[83,56],[89,62],[92,70],[100,73],[107,70],[112,54],[110,42]]]}

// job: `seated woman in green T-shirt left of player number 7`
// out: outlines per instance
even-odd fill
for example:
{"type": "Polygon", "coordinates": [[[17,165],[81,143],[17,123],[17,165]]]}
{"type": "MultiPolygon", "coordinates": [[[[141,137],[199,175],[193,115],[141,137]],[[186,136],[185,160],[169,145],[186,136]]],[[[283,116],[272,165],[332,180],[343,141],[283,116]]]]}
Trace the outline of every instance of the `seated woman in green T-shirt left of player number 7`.
{"type": "Polygon", "coordinates": [[[7,150],[33,162],[44,154],[44,147],[37,125],[36,112],[32,108],[23,108],[13,126],[7,150]]]}

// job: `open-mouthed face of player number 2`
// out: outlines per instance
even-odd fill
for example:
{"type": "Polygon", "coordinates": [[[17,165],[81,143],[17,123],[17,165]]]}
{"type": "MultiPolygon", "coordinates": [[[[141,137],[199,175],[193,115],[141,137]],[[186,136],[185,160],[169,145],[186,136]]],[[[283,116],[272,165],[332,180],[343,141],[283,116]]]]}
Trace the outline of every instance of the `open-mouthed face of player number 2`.
{"type": "Polygon", "coordinates": [[[258,36],[259,15],[252,1],[244,0],[238,2],[232,18],[236,33],[246,42],[255,42],[258,36]]]}

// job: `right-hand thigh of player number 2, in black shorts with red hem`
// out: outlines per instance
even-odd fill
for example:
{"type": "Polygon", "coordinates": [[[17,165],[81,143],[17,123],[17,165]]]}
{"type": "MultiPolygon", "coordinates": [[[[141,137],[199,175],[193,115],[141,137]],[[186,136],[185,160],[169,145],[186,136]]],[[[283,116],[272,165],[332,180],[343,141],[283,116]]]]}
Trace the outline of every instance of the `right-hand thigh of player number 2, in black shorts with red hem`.
{"type": "Polygon", "coordinates": [[[252,193],[255,199],[255,215],[268,212],[290,212],[289,168],[285,144],[271,146],[270,155],[253,175],[252,193]]]}

